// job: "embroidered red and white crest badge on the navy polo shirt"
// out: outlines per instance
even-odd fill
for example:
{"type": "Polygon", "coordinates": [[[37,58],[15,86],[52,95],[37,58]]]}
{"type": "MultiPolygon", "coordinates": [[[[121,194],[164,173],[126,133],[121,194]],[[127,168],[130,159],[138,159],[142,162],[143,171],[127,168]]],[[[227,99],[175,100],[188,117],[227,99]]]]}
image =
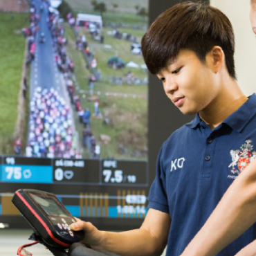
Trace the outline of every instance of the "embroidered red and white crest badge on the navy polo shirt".
{"type": "Polygon", "coordinates": [[[232,163],[228,167],[232,167],[230,172],[233,174],[240,174],[246,169],[247,165],[256,158],[256,152],[253,151],[253,145],[251,145],[252,140],[246,140],[246,143],[241,145],[241,150],[230,150],[230,155],[232,157],[232,163]],[[252,152],[253,151],[253,152],[252,152]],[[238,170],[236,169],[236,166],[238,170]]]}

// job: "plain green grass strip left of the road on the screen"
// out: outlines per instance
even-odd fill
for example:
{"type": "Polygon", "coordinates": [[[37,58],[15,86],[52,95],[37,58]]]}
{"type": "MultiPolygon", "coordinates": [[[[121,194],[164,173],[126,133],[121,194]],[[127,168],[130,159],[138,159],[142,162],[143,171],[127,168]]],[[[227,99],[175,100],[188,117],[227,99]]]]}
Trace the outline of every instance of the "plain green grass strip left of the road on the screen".
{"type": "Polygon", "coordinates": [[[13,153],[19,85],[24,61],[25,39],[21,29],[28,14],[0,14],[0,153],[13,153]]]}

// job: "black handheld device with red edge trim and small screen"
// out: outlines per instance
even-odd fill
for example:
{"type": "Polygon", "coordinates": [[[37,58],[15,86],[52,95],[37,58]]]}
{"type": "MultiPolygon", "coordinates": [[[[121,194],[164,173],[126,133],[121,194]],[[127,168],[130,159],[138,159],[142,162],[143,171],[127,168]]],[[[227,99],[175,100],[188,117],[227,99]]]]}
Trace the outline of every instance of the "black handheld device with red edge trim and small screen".
{"type": "Polygon", "coordinates": [[[84,237],[83,231],[71,230],[75,218],[55,194],[21,189],[15,192],[12,203],[49,246],[68,248],[84,237]]]}

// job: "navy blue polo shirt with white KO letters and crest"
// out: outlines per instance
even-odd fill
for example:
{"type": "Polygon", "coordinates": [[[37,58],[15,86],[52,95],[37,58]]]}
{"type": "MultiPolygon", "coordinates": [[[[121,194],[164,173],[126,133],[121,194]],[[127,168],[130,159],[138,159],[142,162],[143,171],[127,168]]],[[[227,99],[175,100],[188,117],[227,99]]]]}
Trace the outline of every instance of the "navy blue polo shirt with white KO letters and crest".
{"type": "MultiPolygon", "coordinates": [[[[214,130],[196,115],[165,141],[148,207],[167,212],[172,219],[167,256],[181,255],[232,181],[246,172],[255,157],[255,94],[214,130]]],[[[256,225],[217,255],[233,256],[254,239],[256,225]]]]}

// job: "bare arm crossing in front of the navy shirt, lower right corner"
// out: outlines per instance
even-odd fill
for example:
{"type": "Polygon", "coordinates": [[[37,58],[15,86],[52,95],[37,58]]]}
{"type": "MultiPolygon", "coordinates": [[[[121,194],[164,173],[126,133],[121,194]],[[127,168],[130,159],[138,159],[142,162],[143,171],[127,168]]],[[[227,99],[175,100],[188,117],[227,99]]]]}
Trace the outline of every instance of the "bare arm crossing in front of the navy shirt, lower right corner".
{"type": "Polygon", "coordinates": [[[256,160],[230,185],[208,221],[181,256],[214,256],[243,234],[255,221],[256,160]]]}

